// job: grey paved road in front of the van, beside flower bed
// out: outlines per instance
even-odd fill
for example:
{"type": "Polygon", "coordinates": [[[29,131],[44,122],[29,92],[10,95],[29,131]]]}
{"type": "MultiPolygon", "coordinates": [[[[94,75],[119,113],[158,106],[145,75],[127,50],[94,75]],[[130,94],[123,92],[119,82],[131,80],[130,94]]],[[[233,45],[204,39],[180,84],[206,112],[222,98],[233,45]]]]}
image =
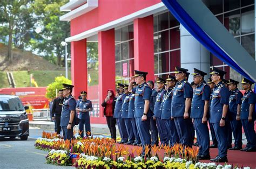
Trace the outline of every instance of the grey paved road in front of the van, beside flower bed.
{"type": "MultiPolygon", "coordinates": [[[[42,136],[43,130],[30,128],[30,137],[26,141],[16,139],[0,139],[0,168],[63,168],[45,164],[47,151],[35,149],[35,138],[42,136]]],[[[64,167],[74,168],[74,167],[64,167]]]]}

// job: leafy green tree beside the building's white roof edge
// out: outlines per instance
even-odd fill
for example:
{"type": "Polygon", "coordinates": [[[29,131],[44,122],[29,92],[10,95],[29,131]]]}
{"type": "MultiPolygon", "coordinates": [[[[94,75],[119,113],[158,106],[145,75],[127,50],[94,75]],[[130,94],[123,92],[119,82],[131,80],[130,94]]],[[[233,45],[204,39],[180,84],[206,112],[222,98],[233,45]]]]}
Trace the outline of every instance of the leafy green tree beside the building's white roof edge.
{"type": "Polygon", "coordinates": [[[70,23],[59,20],[59,17],[65,14],[59,8],[67,2],[68,0],[35,0],[31,5],[37,16],[35,38],[30,40],[32,49],[52,61],[53,56],[57,57],[56,64],[59,66],[64,66],[65,63],[65,60],[62,61],[65,47],[60,43],[70,36],[70,23]]]}

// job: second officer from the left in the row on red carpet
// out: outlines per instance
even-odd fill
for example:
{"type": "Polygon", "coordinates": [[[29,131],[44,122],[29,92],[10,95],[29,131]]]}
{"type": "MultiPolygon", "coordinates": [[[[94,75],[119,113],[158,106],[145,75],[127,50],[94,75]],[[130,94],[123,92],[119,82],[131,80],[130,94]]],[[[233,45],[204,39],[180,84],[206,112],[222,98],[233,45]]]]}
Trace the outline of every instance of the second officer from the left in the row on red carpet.
{"type": "Polygon", "coordinates": [[[130,96],[132,94],[128,91],[128,85],[124,85],[124,94],[125,94],[125,98],[122,105],[122,118],[124,119],[125,128],[129,137],[129,141],[124,144],[133,144],[135,141],[135,135],[132,130],[131,118],[129,117],[129,102],[130,102],[130,96]]]}

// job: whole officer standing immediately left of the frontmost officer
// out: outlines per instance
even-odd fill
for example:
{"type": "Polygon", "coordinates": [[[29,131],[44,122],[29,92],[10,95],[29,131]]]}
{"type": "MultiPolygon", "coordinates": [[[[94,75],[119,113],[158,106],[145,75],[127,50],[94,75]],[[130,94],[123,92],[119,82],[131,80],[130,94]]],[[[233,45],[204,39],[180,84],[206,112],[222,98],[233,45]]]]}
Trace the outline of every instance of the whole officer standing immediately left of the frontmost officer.
{"type": "Polygon", "coordinates": [[[191,103],[191,118],[193,118],[192,121],[197,132],[199,145],[198,158],[201,160],[211,159],[209,152],[210,136],[207,125],[211,89],[204,81],[204,76],[207,73],[194,68],[192,75],[194,75],[193,81],[197,85],[191,103]]]}

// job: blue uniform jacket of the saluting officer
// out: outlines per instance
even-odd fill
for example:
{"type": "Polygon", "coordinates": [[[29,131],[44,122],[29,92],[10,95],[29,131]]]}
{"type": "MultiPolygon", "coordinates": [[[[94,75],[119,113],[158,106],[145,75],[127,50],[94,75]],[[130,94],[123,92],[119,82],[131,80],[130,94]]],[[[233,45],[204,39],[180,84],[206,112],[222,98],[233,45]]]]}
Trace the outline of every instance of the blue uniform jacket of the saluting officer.
{"type": "MultiPolygon", "coordinates": [[[[142,85],[137,86],[136,88],[132,88],[132,92],[135,95],[134,117],[142,117],[144,112],[145,100],[150,101],[152,90],[149,87],[149,85],[147,85],[147,83],[145,82],[142,85]]],[[[147,111],[147,117],[152,117],[152,112],[150,110],[147,111]]]]}

